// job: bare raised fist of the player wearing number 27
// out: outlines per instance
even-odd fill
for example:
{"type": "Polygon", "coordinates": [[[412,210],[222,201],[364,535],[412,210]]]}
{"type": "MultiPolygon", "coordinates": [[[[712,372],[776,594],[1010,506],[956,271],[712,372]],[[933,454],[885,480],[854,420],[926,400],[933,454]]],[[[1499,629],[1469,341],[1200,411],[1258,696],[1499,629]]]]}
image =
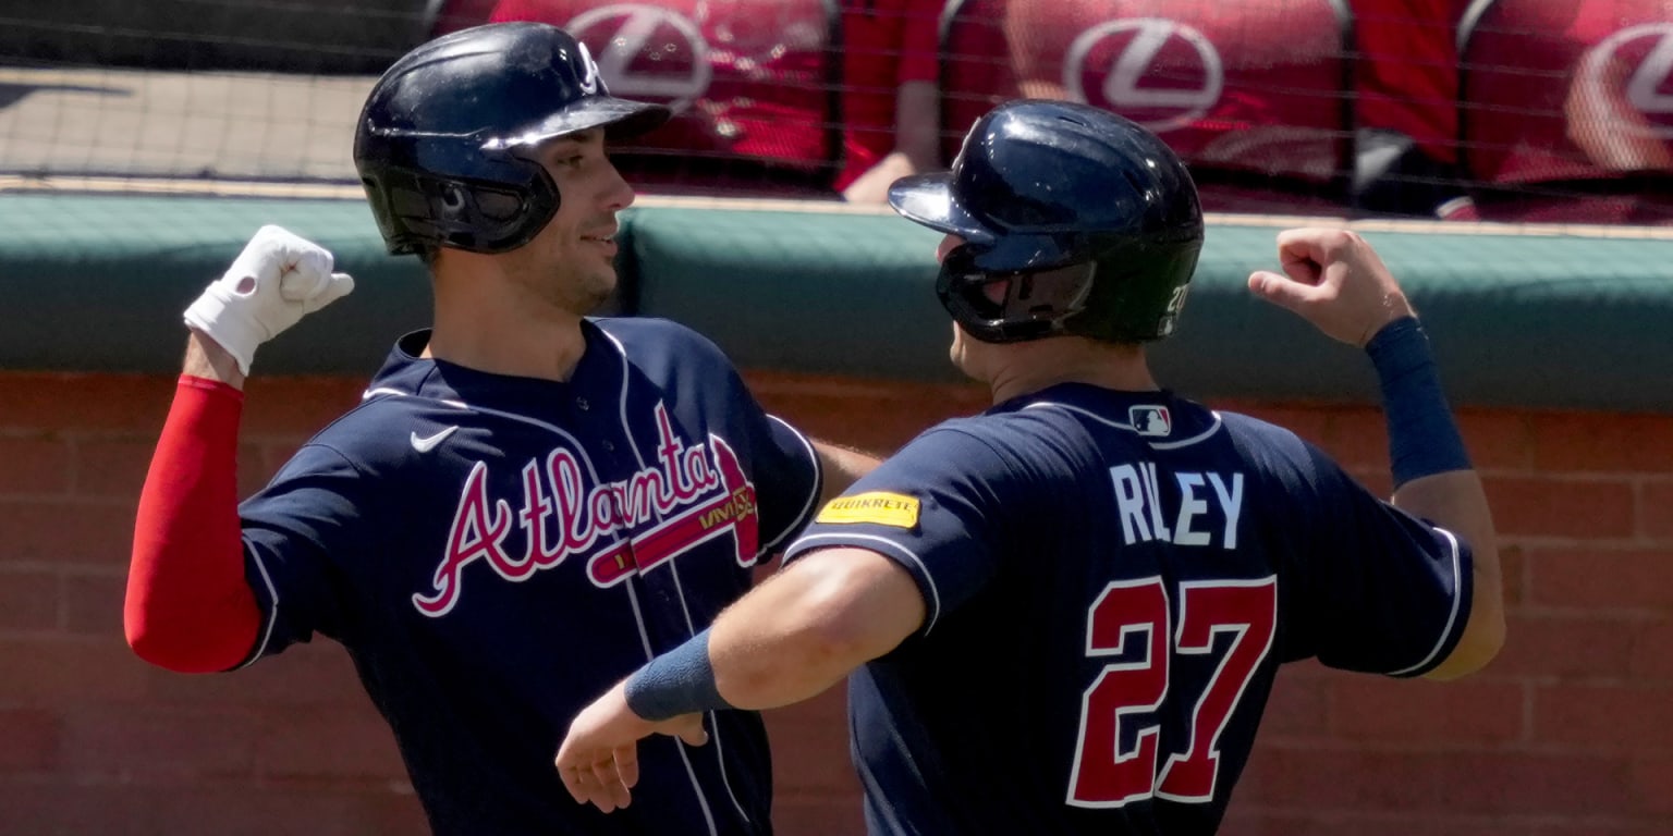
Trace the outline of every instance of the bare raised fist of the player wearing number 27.
{"type": "Polygon", "coordinates": [[[1333,339],[1365,346],[1382,326],[1412,316],[1394,274],[1363,237],[1347,229],[1278,232],[1278,263],[1283,274],[1255,271],[1250,291],[1333,339]]]}

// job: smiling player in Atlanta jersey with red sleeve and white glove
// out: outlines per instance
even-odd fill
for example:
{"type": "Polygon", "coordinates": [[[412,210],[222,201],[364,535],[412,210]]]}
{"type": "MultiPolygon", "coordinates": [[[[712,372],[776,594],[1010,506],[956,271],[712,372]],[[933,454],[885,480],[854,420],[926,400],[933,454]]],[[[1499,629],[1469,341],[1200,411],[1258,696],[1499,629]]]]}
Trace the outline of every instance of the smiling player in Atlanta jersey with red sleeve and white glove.
{"type": "Polygon", "coordinates": [[[540,23],[395,62],[355,162],[388,249],[430,266],[433,329],[239,507],[253,354],[351,279],[264,227],[191,304],[134,538],[139,655],[209,672],[341,642],[438,834],[771,831],[755,712],[649,746],[661,804],[624,816],[570,803],[550,761],[587,699],[709,624],[872,463],[763,413],[701,336],[584,316],[632,202],[604,140],[666,117],[540,23]]]}

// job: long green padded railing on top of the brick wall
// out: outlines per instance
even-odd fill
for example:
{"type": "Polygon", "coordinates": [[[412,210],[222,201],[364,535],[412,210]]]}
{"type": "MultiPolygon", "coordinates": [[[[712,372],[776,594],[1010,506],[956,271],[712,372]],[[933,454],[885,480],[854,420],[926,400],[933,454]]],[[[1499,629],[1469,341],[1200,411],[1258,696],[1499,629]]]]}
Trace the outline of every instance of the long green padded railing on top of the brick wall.
{"type": "MultiPolygon", "coordinates": [[[[744,204],[748,206],[748,204],[744,204]]],[[[417,259],[360,201],[0,194],[0,368],[169,373],[179,313],[264,222],[336,252],[358,289],[264,346],[264,375],[370,375],[428,321],[417,259]]],[[[1363,232],[1417,303],[1456,403],[1673,410],[1673,241],[1363,232]]],[[[1213,222],[1159,380],[1195,396],[1372,396],[1357,351],[1260,303],[1276,227],[1213,222]]],[[[624,216],[621,309],[709,334],[744,368],[957,380],[939,236],[887,212],[694,207],[624,216]]]]}

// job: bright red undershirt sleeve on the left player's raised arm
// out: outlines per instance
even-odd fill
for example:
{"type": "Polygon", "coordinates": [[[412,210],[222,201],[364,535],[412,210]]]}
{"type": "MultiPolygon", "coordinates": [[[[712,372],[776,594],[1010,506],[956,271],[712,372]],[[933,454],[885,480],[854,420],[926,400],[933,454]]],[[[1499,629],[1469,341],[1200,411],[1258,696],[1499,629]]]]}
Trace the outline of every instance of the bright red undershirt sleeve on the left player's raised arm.
{"type": "Polygon", "coordinates": [[[139,495],[124,627],[141,659],[169,670],[228,670],[256,644],[238,518],[243,410],[243,391],[182,375],[139,495]]]}

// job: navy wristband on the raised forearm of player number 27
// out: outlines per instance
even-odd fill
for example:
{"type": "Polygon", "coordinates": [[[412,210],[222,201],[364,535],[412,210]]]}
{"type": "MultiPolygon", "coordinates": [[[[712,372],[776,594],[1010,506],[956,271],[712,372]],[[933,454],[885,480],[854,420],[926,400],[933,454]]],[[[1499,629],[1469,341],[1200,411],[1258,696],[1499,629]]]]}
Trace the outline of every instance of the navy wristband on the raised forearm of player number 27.
{"type": "Polygon", "coordinates": [[[1452,410],[1447,408],[1447,396],[1435,373],[1435,358],[1429,353],[1429,336],[1417,318],[1404,316],[1385,324],[1365,343],[1365,353],[1377,368],[1377,383],[1382,386],[1394,487],[1435,473],[1469,470],[1464,436],[1452,421],[1452,410]]]}

